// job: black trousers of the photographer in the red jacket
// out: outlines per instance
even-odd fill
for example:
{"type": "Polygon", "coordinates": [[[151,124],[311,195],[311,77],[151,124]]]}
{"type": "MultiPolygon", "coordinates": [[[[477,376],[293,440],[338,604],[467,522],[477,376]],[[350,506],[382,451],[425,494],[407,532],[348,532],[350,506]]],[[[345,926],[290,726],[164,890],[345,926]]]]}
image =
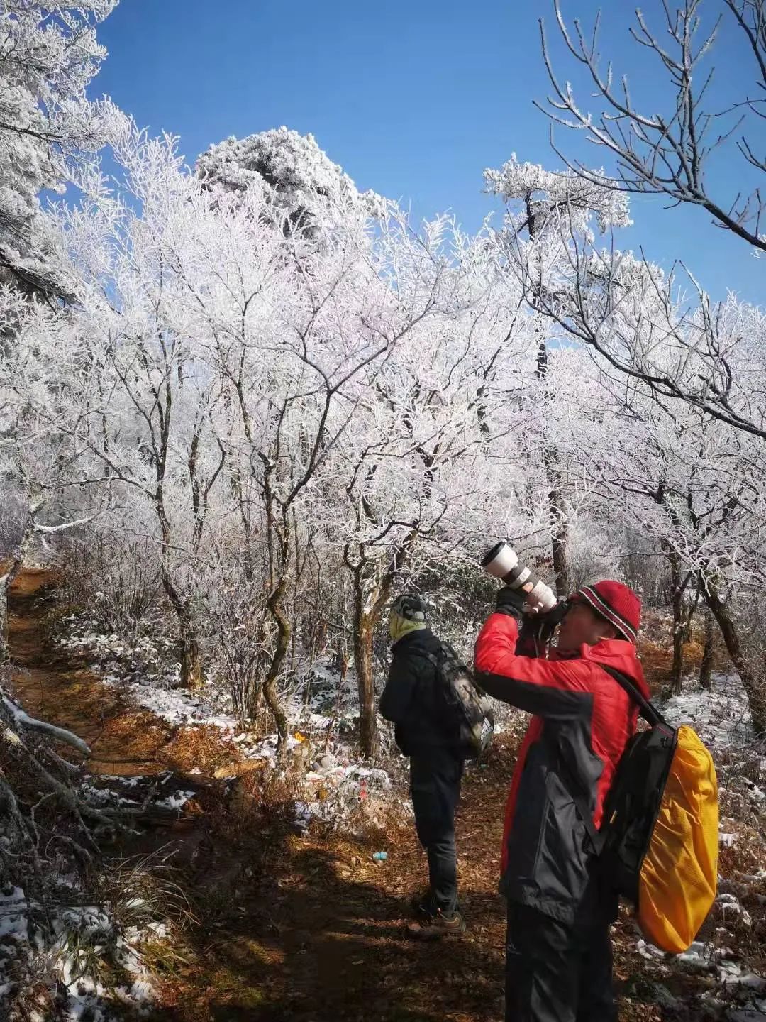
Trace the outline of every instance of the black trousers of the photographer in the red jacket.
{"type": "Polygon", "coordinates": [[[506,1022],[617,1022],[609,925],[509,902],[506,1022]]]}

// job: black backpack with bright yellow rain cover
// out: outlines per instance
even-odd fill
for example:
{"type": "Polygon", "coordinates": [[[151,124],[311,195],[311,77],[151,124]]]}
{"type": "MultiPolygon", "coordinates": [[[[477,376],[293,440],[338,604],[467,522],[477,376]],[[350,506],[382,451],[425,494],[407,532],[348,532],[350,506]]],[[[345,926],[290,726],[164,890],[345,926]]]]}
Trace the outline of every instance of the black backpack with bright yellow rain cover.
{"type": "Polygon", "coordinates": [[[650,729],[628,742],[601,831],[583,809],[580,815],[600,852],[605,882],[636,907],[648,940],[680,954],[691,944],[716,896],[718,784],[713,758],[691,728],[672,728],[630,679],[604,669],[638,703],[650,729]]]}

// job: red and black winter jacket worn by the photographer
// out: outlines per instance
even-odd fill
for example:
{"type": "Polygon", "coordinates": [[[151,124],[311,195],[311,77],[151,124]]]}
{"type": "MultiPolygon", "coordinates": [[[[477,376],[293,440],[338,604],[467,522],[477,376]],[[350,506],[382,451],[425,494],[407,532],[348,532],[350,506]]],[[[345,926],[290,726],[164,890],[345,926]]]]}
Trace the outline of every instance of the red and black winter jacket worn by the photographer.
{"type": "Polygon", "coordinates": [[[635,730],[638,708],[601,664],[649,689],[632,643],[605,639],[579,654],[517,652],[518,625],[492,614],[476,642],[477,680],[502,702],[532,713],[506,805],[500,890],[562,922],[613,916],[599,888],[595,855],[571,795],[601,826],[604,799],[635,730]]]}

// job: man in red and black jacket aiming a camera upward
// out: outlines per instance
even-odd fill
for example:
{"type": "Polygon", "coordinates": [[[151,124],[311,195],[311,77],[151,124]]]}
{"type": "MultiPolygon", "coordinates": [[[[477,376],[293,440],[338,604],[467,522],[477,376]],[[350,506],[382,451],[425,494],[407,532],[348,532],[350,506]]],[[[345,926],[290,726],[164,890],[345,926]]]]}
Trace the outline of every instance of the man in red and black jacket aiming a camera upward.
{"type": "Polygon", "coordinates": [[[477,681],[495,699],[533,714],[502,839],[507,1022],[617,1020],[609,932],[617,899],[600,883],[588,830],[601,827],[638,715],[605,668],[649,695],[635,651],[641,604],[627,586],[606,580],[579,590],[568,608],[557,645],[547,649],[540,642],[544,615],[523,615],[522,598],[506,587],[476,643],[477,681]],[[590,827],[576,801],[588,806],[590,827]]]}

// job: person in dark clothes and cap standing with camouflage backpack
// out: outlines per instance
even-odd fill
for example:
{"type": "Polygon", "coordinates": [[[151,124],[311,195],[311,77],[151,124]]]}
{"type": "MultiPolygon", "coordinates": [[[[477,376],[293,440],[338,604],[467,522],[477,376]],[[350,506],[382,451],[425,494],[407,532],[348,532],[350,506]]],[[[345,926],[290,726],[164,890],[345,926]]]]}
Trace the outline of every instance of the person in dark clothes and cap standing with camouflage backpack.
{"type": "Polygon", "coordinates": [[[396,744],[410,756],[410,791],[418,838],[428,853],[429,888],[416,899],[413,936],[434,940],[465,931],[458,909],[454,810],[463,758],[445,725],[436,665],[441,644],[426,623],[419,596],[400,596],[389,616],[391,668],[380,698],[381,714],[394,724],[396,744]]]}

